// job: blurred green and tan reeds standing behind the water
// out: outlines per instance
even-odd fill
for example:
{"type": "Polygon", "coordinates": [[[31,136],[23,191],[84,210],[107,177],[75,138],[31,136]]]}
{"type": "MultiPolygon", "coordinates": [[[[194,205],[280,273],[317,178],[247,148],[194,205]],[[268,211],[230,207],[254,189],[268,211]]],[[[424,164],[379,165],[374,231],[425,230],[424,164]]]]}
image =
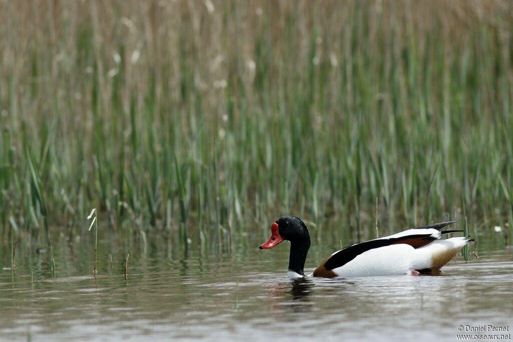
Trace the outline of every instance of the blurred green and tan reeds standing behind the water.
{"type": "Polygon", "coordinates": [[[446,218],[508,243],[510,1],[2,0],[0,21],[4,245],[86,234],[92,208],[185,248],[287,213],[337,243],[446,218]]]}

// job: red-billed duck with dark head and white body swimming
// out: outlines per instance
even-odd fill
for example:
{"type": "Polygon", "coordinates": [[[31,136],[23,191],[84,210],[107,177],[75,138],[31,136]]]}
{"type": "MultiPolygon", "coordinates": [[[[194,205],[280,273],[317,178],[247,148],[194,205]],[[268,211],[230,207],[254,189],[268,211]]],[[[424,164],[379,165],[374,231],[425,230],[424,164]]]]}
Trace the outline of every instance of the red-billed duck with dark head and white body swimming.
{"type": "Polygon", "coordinates": [[[344,247],[324,259],[308,275],[305,275],[304,267],[310,248],[310,234],[301,218],[297,216],[278,218],[271,224],[271,237],[259,248],[270,249],[285,240],[290,242],[287,272],[289,278],[435,274],[460,249],[473,241],[470,235],[440,239],[445,234],[463,232],[462,230],[440,230],[456,222],[448,221],[411,228],[397,234],[344,247]]]}

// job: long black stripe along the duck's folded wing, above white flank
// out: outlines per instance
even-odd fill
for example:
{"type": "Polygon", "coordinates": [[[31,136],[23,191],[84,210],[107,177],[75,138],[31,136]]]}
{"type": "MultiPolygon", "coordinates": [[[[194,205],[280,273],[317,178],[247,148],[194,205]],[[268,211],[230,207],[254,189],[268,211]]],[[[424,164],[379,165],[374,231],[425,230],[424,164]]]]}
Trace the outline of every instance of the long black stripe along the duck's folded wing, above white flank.
{"type": "Polygon", "coordinates": [[[403,240],[410,240],[410,239],[428,240],[422,246],[427,245],[430,241],[436,240],[436,238],[432,237],[431,234],[417,234],[417,235],[394,237],[394,238],[389,238],[389,239],[370,240],[370,241],[366,241],[366,242],[363,242],[360,244],[348,246],[348,247],[341,249],[337,253],[333,254],[328,260],[326,260],[326,263],[324,263],[324,267],[327,270],[332,270],[332,269],[344,266],[345,264],[349,263],[349,261],[356,258],[358,255],[360,255],[364,252],[370,251],[371,249],[390,246],[393,244],[398,244],[398,243],[401,243],[401,241],[403,241],[403,240]]]}

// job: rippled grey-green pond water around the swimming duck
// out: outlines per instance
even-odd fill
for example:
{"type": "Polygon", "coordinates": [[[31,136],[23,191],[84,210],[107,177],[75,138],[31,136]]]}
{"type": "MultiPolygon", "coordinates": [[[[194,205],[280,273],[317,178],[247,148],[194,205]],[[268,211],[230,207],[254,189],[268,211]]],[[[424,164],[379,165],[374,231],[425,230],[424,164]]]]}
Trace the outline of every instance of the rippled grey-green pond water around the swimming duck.
{"type": "MultiPolygon", "coordinates": [[[[33,285],[22,256],[0,271],[0,340],[456,340],[460,325],[513,328],[508,249],[459,256],[440,276],[305,280],[286,278],[285,244],[186,260],[155,247],[131,254],[127,280],[121,257],[110,269],[102,254],[95,279],[90,253],[66,250],[55,278],[45,255],[33,285]]],[[[326,253],[313,249],[307,266],[326,253]]]]}

